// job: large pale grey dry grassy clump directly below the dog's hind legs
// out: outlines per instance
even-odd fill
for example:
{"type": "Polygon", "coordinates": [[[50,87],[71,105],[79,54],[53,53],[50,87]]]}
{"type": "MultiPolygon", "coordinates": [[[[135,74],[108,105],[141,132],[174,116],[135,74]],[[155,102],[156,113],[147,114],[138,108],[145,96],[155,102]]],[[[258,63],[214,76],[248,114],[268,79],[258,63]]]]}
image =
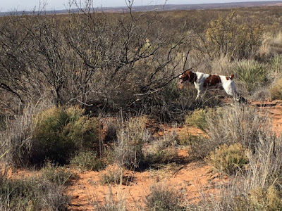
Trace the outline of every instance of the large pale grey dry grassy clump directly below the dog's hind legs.
{"type": "Polygon", "coordinates": [[[207,117],[205,149],[214,151],[226,143],[228,146],[241,143],[244,148],[255,151],[260,139],[271,131],[271,122],[266,115],[260,115],[257,108],[242,104],[224,106],[216,115],[207,117]],[[219,113],[219,115],[217,115],[219,113]]]}

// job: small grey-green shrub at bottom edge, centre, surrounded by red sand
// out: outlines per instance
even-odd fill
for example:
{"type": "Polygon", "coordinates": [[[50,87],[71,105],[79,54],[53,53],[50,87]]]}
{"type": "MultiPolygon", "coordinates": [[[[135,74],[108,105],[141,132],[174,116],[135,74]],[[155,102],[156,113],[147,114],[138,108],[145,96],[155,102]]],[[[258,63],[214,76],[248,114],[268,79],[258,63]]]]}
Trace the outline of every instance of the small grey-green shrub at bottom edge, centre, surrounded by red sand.
{"type": "Polygon", "coordinates": [[[180,206],[181,194],[165,184],[154,184],[150,187],[151,193],[146,197],[147,210],[180,211],[185,210],[180,206]]]}

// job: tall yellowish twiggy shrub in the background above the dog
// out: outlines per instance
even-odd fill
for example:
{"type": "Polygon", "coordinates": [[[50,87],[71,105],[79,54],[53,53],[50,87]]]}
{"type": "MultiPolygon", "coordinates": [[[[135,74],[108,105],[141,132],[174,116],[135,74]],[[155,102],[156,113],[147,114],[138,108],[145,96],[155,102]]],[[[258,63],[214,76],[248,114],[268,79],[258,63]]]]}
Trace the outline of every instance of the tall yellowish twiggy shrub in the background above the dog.
{"type": "Polygon", "coordinates": [[[252,20],[241,22],[235,12],[228,15],[219,15],[216,20],[211,20],[200,36],[200,51],[209,58],[230,56],[235,59],[251,58],[259,49],[263,34],[262,23],[252,20]]]}

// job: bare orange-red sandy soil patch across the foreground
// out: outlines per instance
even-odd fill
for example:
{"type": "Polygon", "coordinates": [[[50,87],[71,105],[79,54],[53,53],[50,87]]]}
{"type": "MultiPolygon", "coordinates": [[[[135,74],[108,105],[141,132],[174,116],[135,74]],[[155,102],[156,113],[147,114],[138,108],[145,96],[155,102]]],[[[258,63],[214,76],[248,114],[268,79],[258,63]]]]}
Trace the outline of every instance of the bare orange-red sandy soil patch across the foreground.
{"type": "Polygon", "coordinates": [[[124,200],[128,210],[142,210],[149,187],[157,183],[180,191],[191,203],[197,202],[204,194],[218,193],[217,186],[228,181],[228,177],[212,174],[211,169],[200,162],[192,162],[165,170],[125,171],[124,175],[132,177],[132,181],[110,185],[101,184],[99,179],[106,170],[80,173],[80,179],[73,181],[73,185],[68,188],[68,194],[73,196],[69,209],[95,210],[97,205],[114,196],[115,200],[124,200]]]}

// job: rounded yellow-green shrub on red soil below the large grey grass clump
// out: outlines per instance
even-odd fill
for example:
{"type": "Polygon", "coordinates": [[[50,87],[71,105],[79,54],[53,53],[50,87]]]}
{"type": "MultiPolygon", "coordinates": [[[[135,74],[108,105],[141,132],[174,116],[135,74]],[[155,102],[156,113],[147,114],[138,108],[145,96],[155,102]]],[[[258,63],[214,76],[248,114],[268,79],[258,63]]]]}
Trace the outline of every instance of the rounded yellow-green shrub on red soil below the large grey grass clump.
{"type": "Polygon", "coordinates": [[[217,170],[229,175],[236,174],[238,170],[243,170],[249,162],[247,150],[240,143],[234,143],[231,146],[226,144],[219,146],[216,151],[207,156],[207,160],[217,170]]]}

